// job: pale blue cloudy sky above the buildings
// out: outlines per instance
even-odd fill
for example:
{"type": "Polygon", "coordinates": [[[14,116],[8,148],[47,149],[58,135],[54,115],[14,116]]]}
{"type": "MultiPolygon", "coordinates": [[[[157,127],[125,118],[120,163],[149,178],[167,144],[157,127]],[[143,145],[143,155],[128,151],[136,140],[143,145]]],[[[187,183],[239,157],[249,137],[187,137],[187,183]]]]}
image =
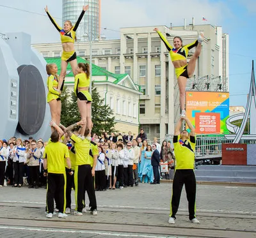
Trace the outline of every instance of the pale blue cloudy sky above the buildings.
{"type": "MultiPolygon", "coordinates": [[[[46,4],[61,24],[62,0],[0,0],[0,33],[24,31],[31,34],[32,43],[59,42],[59,34],[45,15],[46,4]]],[[[183,19],[189,24],[192,17],[195,24],[222,26],[223,33],[230,35],[230,105],[246,105],[256,54],[256,0],[102,0],[101,11],[102,33],[108,39],[120,38],[120,27],[170,26],[171,22],[181,26],[183,19]]]]}

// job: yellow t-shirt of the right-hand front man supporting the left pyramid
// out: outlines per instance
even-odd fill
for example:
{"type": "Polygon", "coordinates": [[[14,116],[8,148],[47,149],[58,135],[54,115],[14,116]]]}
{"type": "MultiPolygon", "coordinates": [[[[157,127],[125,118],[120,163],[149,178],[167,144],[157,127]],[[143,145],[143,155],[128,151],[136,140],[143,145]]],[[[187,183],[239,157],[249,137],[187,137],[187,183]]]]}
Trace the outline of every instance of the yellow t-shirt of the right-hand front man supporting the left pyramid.
{"type": "Polygon", "coordinates": [[[91,165],[90,160],[90,141],[89,140],[81,140],[81,138],[76,135],[72,135],[70,137],[71,140],[74,141],[75,151],[76,151],[76,165],[91,165]]]}

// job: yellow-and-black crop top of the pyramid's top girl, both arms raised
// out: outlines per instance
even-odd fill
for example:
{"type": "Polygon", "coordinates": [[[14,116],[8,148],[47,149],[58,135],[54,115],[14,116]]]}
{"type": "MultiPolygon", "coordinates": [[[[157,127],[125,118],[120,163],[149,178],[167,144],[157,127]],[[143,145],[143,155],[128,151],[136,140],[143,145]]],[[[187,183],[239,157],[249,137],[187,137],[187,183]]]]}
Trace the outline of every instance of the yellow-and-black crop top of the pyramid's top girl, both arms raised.
{"type": "Polygon", "coordinates": [[[83,15],[84,15],[85,11],[83,10],[76,22],[76,24],[70,29],[70,31],[66,32],[64,31],[64,29],[62,29],[57,23],[56,21],[52,18],[52,16],[50,15],[50,13],[47,11],[47,15],[49,17],[49,19],[51,20],[52,24],[56,27],[56,29],[60,32],[60,40],[61,43],[65,43],[65,42],[75,42],[75,38],[76,38],[76,30],[77,27],[79,26],[79,23],[81,22],[83,15]]]}

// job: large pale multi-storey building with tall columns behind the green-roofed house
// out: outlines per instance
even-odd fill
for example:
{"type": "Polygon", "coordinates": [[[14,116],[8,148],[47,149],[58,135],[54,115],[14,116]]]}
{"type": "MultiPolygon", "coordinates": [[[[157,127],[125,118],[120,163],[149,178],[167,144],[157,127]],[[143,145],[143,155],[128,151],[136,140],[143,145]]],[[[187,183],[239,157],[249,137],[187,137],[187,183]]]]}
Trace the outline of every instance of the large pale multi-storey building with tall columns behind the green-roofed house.
{"type": "MultiPolygon", "coordinates": [[[[179,90],[177,78],[169,53],[157,33],[151,27],[128,27],[120,29],[120,39],[100,40],[92,43],[93,64],[113,73],[127,73],[135,84],[141,86],[139,120],[148,134],[163,140],[173,134],[174,124],[179,118],[179,90]]],[[[204,31],[205,41],[196,63],[195,77],[188,80],[188,90],[196,83],[201,90],[211,82],[209,91],[215,86],[219,91],[228,91],[228,34],[221,27],[211,25],[172,27],[157,26],[170,43],[180,36],[186,45],[196,40],[198,31],[204,31]]],[[[61,54],[61,44],[34,45],[43,56],[61,54]]],[[[90,43],[76,43],[77,55],[90,58],[90,43]]],[[[192,56],[195,48],[189,53],[192,56]]],[[[189,61],[188,57],[188,61],[189,61]]],[[[120,96],[122,98],[122,96],[120,96]]],[[[122,100],[121,100],[122,101],[122,100]]],[[[133,107],[133,106],[132,106],[133,107]]]]}

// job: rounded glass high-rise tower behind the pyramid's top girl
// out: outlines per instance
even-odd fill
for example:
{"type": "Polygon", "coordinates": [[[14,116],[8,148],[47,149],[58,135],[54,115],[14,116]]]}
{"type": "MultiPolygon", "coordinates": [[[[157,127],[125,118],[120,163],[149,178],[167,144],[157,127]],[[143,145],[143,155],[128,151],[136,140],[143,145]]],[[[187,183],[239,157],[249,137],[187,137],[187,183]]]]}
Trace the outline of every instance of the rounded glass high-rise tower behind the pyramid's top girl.
{"type": "Polygon", "coordinates": [[[101,0],[62,0],[62,20],[75,24],[83,6],[89,5],[76,31],[77,41],[92,41],[100,36],[101,0]]]}

